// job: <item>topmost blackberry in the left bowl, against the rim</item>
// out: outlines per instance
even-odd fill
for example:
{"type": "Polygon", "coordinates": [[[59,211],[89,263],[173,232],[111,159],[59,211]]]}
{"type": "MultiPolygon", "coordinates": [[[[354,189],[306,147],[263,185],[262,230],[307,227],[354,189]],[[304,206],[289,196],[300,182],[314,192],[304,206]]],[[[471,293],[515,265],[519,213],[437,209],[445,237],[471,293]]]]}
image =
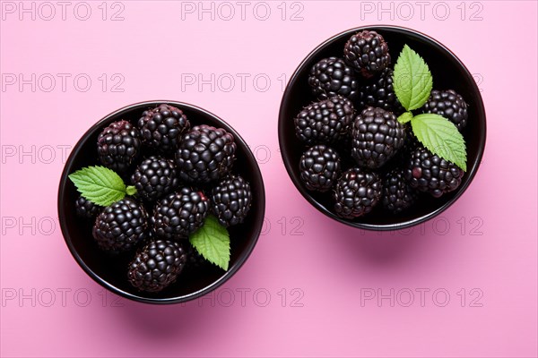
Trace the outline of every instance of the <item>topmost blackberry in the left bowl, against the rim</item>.
{"type": "Polygon", "coordinates": [[[178,142],[190,124],[181,109],[162,104],[144,111],[138,120],[138,128],[145,145],[170,152],[178,148],[178,142]]]}

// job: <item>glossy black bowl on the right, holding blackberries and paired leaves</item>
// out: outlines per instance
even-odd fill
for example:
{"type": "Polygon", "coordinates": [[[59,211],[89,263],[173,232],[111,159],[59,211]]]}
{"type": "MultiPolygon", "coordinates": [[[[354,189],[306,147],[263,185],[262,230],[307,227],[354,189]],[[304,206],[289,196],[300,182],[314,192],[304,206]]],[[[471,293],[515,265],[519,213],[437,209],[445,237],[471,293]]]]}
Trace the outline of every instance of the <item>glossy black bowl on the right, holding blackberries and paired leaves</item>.
{"type": "MultiPolygon", "coordinates": [[[[357,109],[360,110],[360,108],[357,109]]],[[[473,80],[473,75],[447,47],[415,30],[394,26],[365,26],[347,30],[329,38],[299,64],[282,98],[278,135],[282,158],[291,181],[314,207],[326,216],[350,226],[369,230],[395,230],[417,225],[437,216],[464,193],[473,181],[482,160],[486,143],[486,115],[482,96],[473,80]],[[376,208],[368,215],[349,220],[334,214],[334,200],[330,193],[309,192],[300,181],[299,158],[307,147],[295,136],[293,118],[302,107],[316,100],[308,86],[310,68],[325,57],[343,57],[345,43],[352,34],[360,30],[375,30],[383,35],[388,43],[393,64],[404,45],[409,45],[430,66],[434,89],[456,90],[464,97],[469,104],[469,120],[463,132],[467,145],[467,172],[455,192],[449,192],[439,199],[422,195],[418,204],[400,215],[387,214],[381,208],[376,208]]]]}

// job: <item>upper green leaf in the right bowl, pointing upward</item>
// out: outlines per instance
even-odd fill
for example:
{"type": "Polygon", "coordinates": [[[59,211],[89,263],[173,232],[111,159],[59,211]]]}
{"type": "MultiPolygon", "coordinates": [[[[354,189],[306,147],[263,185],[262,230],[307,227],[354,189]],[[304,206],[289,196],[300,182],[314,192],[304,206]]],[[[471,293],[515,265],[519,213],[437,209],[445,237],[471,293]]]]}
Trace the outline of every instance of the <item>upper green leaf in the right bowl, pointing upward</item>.
{"type": "Polygon", "coordinates": [[[396,97],[408,111],[424,106],[430,97],[433,79],[428,64],[407,45],[396,61],[393,81],[396,97]]]}

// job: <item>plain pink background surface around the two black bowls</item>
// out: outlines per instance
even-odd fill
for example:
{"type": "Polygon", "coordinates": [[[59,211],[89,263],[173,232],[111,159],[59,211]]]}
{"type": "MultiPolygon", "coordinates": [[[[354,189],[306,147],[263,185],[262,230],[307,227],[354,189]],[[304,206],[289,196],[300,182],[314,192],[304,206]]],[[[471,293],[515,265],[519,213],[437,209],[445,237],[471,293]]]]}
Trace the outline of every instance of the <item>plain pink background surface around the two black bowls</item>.
{"type": "Polygon", "coordinates": [[[69,3],[65,20],[49,4],[47,20],[50,6],[24,2],[32,20],[19,2],[2,2],[2,356],[537,355],[535,2],[430,2],[423,13],[415,2],[249,2],[244,19],[231,2],[230,20],[230,7],[214,3],[214,20],[202,21],[182,13],[198,2],[87,2],[86,21],[75,16],[86,16],[84,4],[69,3]],[[117,12],[123,20],[110,21],[117,12]],[[302,20],[291,21],[296,12],[302,20]],[[471,187],[443,217],[404,233],[321,215],[278,151],[282,74],[325,38],[377,23],[450,47],[476,73],[488,114],[471,187]],[[32,73],[35,89],[20,88],[19,74],[31,82],[32,73]],[[214,88],[186,84],[198,73],[214,73],[214,88]],[[250,76],[243,89],[238,73],[250,76]],[[213,295],[167,307],[105,294],[56,218],[63,148],[118,107],[158,98],[207,108],[241,132],[267,196],[264,234],[244,268],[213,295]]]}

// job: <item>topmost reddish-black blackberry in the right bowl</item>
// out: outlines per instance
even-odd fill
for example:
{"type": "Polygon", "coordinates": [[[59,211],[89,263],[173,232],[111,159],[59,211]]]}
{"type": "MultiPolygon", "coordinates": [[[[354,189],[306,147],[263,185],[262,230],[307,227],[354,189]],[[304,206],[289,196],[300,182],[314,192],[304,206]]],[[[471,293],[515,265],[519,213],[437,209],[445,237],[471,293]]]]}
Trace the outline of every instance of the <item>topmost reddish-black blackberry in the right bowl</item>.
{"type": "Polygon", "coordinates": [[[376,31],[363,30],[351,36],[343,47],[343,55],[351,67],[367,78],[390,64],[388,45],[376,31]]]}

